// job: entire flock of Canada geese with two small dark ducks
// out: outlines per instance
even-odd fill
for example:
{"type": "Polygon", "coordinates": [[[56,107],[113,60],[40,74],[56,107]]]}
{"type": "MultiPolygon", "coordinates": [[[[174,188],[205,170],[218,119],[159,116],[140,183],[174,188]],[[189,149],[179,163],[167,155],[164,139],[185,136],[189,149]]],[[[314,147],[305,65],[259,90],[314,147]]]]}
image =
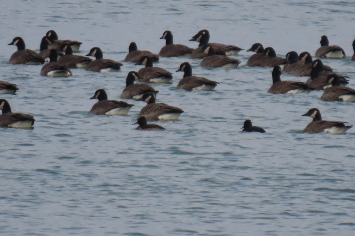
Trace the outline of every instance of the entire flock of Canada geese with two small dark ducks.
{"type": "MultiPolygon", "coordinates": [[[[230,57],[238,54],[240,47],[209,42],[209,31],[204,29],[199,31],[190,41],[199,42],[197,48],[190,48],[182,44],[173,43],[173,34],[167,30],[160,39],[166,40],[166,45],[158,54],[150,51],[138,50],[135,42],[129,45],[129,53],[125,57],[125,62],[132,62],[145,67],[139,71],[130,71],[126,78],[126,87],[121,93],[123,99],[142,100],[147,103],[137,117],[139,126],[136,129],[164,129],[162,126],[147,124],[147,120],[178,120],[180,114],[184,112],[181,108],[173,107],[165,103],[155,103],[155,97],[159,91],[155,90],[147,83],[169,83],[173,74],[169,71],[153,67],[153,62],[158,62],[159,57],[190,57],[201,58],[202,67],[223,67],[237,68],[241,63],[239,60],[230,57]],[[136,83],[135,81],[141,81],[136,83]]],[[[345,58],[344,50],[336,45],[329,45],[327,36],[321,37],[321,47],[316,51],[318,58],[345,58]]],[[[49,30],[40,42],[40,52],[26,49],[21,37],[15,37],[8,45],[17,47],[9,60],[11,64],[44,64],[40,70],[40,75],[61,77],[71,76],[72,68],[85,68],[95,72],[121,71],[120,62],[111,59],[104,59],[103,52],[99,47],[93,47],[86,56],[73,54],[78,52],[82,43],[73,40],[59,40],[54,30],[49,30]],[[95,57],[92,60],[88,56],[95,57]]],[[[354,55],[351,61],[355,61],[355,40],[353,42],[354,55]]],[[[272,47],[264,48],[262,44],[256,43],[247,50],[255,52],[246,65],[250,67],[273,67],[273,84],[269,88],[269,93],[297,93],[310,92],[311,90],[324,90],[321,99],[326,101],[355,101],[355,90],[346,87],[347,77],[332,72],[332,68],[323,65],[320,59],[313,61],[308,52],[298,54],[295,51],[288,52],[285,58],[277,57],[272,47]],[[309,76],[306,82],[282,81],[280,75],[283,73],[295,76],[309,76]]],[[[192,75],[192,67],[189,62],[184,62],[176,71],[184,72],[183,78],[179,81],[177,88],[187,91],[192,90],[214,90],[219,84],[217,81],[209,80],[205,77],[192,75]]],[[[15,94],[17,85],[10,82],[0,81],[0,93],[15,94]]],[[[90,114],[94,115],[127,115],[133,104],[124,101],[109,100],[107,93],[103,89],[95,91],[90,99],[98,99],[93,105],[90,114]]],[[[1,127],[31,128],[34,124],[32,115],[23,113],[12,113],[10,104],[5,99],[0,99],[1,127]]],[[[310,109],[302,116],[310,116],[313,121],[307,125],[304,132],[318,133],[345,133],[352,125],[345,125],[344,122],[322,120],[321,113],[317,108],[310,109]]],[[[250,120],[244,122],[243,131],[266,132],[263,128],[253,126],[250,120]]]]}

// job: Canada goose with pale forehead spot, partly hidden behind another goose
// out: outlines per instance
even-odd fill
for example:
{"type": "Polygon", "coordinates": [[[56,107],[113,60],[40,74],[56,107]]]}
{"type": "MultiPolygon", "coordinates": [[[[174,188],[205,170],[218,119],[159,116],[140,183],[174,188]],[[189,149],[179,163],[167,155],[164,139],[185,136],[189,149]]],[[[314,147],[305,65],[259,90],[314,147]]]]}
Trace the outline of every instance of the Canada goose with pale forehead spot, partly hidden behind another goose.
{"type": "MultiPolygon", "coordinates": [[[[209,42],[209,31],[207,29],[200,30],[196,35],[192,36],[192,39],[190,41],[196,41],[199,42],[200,44],[198,47],[202,46],[212,46],[218,55],[236,55],[238,54],[241,50],[244,50],[240,47],[234,46],[234,45],[225,45],[225,44],[219,44],[219,43],[214,43],[214,42],[209,42]]],[[[203,55],[199,48],[196,48],[192,54],[191,58],[203,58],[206,57],[206,55],[203,55]]]]}

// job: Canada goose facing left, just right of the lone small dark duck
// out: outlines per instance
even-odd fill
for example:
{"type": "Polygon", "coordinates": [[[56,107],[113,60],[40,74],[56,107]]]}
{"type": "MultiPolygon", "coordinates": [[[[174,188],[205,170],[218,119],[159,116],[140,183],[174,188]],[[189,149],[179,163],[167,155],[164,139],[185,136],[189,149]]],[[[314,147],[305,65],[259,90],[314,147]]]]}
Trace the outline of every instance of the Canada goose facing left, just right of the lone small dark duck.
{"type": "Polygon", "coordinates": [[[313,118],[313,121],[309,123],[303,130],[306,133],[327,132],[344,134],[348,129],[353,127],[352,125],[346,126],[344,122],[340,121],[322,120],[321,113],[317,108],[310,109],[306,114],[303,114],[302,116],[310,116],[313,118]]]}

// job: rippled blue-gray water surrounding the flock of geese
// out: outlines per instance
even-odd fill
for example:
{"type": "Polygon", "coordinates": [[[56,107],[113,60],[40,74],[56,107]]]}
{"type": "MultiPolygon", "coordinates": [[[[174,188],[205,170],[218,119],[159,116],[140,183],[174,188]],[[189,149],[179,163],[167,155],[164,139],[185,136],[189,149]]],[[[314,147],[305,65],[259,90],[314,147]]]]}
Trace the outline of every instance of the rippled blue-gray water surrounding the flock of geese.
{"type": "MultiPolygon", "coordinates": [[[[131,41],[155,53],[171,30],[174,42],[208,29],[212,42],[248,49],[261,42],[284,56],[314,55],[320,37],[344,48],[345,59],[324,59],[355,87],[354,1],[1,1],[1,80],[18,85],[2,94],[13,112],[32,114],[34,129],[1,128],[0,235],[353,235],[355,129],[345,135],[305,134],[301,117],[355,124],[354,103],[324,102],[321,91],[274,95],[272,68],[250,68],[252,53],[233,56],[237,69],[205,69],[200,60],[161,58],[172,84],[154,84],[158,101],[185,110],[166,131],[142,132],[128,116],[88,114],[98,88],[119,99],[129,71],[73,69],[70,78],[40,76],[41,65],[10,65],[22,36],[38,50],[45,33],[82,41],[79,54],[99,46],[122,61],[131,41]],[[189,61],[193,74],[219,81],[215,91],[175,87],[189,61]],[[245,119],[267,133],[243,133],[245,119]]],[[[284,80],[305,77],[282,75],[284,80]]]]}

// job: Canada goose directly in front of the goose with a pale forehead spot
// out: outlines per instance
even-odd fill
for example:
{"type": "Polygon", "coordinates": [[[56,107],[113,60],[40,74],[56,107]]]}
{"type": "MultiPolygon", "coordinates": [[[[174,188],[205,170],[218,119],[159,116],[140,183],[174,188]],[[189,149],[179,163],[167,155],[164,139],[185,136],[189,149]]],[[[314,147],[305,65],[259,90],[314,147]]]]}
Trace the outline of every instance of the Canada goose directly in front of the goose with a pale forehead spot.
{"type": "Polygon", "coordinates": [[[201,67],[223,67],[237,68],[240,61],[225,55],[216,55],[214,48],[210,45],[201,47],[201,50],[207,55],[200,63],[201,67]]]}

